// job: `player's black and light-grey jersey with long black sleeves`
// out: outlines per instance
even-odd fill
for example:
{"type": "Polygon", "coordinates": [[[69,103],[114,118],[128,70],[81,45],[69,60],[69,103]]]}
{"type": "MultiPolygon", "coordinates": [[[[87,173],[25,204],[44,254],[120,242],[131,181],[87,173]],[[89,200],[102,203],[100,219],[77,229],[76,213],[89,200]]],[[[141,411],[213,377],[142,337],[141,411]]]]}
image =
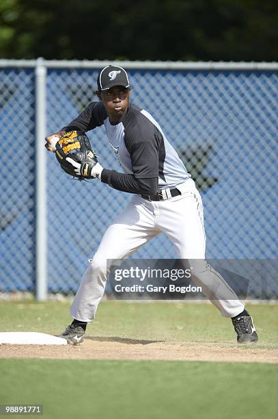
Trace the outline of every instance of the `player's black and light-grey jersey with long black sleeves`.
{"type": "Polygon", "coordinates": [[[101,181],[124,192],[155,194],[191,177],[156,120],[145,110],[129,104],[117,124],[109,121],[105,106],[92,102],[62,128],[89,131],[105,125],[107,137],[124,173],[104,168],[101,181]]]}

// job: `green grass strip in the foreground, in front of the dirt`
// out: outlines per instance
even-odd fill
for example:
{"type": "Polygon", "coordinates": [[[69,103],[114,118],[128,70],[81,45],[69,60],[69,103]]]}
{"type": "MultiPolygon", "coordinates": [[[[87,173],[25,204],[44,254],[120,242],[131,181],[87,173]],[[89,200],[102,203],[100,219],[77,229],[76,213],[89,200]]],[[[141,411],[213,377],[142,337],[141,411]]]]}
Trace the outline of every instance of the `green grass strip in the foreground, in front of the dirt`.
{"type": "Polygon", "coordinates": [[[0,360],[0,403],[44,418],[274,419],[277,368],[180,361],[0,360]]]}

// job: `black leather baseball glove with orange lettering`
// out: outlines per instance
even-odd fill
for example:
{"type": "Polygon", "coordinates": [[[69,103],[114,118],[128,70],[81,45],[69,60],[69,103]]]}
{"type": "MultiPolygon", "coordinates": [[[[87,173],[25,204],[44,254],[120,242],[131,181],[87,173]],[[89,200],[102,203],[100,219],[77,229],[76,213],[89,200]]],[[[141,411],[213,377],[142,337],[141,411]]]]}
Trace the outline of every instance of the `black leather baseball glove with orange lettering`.
{"type": "Polygon", "coordinates": [[[66,132],[55,147],[56,158],[68,175],[77,177],[79,180],[92,179],[89,174],[98,163],[98,159],[84,132],[66,132]]]}

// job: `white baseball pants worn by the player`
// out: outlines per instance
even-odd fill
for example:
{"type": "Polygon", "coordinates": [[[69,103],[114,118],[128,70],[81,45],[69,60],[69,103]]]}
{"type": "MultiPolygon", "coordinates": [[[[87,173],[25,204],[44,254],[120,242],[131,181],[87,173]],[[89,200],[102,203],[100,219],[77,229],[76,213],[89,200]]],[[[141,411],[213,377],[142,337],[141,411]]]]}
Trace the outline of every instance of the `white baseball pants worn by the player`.
{"type": "Polygon", "coordinates": [[[189,259],[193,281],[201,286],[222,316],[234,317],[243,311],[244,303],[205,260],[203,205],[195,182],[187,179],[176,188],[182,194],[166,201],[132,196],[125,210],[105,232],[94,258],[89,259],[70,309],[73,318],[83,322],[94,320],[105,292],[107,259],[124,259],[161,232],[173,242],[180,259],[189,259]]]}

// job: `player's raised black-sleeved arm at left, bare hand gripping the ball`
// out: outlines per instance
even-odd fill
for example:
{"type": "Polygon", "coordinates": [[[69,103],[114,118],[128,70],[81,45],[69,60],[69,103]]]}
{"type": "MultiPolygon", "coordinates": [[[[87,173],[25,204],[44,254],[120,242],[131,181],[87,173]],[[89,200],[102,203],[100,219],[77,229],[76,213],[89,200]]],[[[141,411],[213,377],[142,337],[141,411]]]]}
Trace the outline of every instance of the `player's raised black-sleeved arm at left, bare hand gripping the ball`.
{"type": "Polygon", "coordinates": [[[103,121],[107,117],[105,107],[102,102],[92,102],[87,105],[85,110],[81,112],[77,118],[72,120],[68,125],[61,128],[60,131],[50,134],[45,138],[46,144],[44,147],[48,151],[55,152],[55,144],[57,142],[57,137],[61,138],[68,131],[89,131],[103,124],[103,121]]]}

